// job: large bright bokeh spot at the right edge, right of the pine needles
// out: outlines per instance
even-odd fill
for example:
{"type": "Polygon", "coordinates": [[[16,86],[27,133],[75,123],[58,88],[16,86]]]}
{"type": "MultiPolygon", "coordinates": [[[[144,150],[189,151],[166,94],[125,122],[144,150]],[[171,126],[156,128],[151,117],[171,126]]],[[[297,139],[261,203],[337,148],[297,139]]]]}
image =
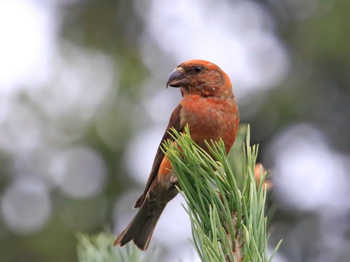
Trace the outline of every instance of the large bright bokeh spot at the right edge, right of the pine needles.
{"type": "Polygon", "coordinates": [[[272,152],[276,193],[283,202],[310,211],[347,205],[343,163],[319,130],[291,126],[273,142],[272,152]]]}

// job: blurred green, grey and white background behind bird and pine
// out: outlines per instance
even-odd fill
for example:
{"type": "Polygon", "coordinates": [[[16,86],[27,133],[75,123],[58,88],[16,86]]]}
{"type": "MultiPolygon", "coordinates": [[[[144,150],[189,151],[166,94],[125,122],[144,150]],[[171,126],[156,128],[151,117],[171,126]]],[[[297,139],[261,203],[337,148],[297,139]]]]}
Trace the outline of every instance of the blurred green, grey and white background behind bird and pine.
{"type": "MultiPolygon", "coordinates": [[[[347,0],[1,0],[0,260],[76,261],[75,232],[120,232],[181,98],[168,74],[204,59],[272,171],[274,261],[349,261],[349,16],[347,0]]],[[[160,261],[199,261],[181,201],[160,261]]]]}

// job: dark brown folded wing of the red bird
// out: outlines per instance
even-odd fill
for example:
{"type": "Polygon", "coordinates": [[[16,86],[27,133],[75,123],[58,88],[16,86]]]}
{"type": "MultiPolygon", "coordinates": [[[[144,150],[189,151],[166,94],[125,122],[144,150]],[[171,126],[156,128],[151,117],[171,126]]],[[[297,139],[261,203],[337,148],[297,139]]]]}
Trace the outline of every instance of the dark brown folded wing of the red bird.
{"type": "Polygon", "coordinates": [[[174,139],[169,135],[168,131],[170,131],[171,128],[174,128],[176,129],[176,131],[178,132],[182,132],[184,130],[184,127],[181,126],[180,124],[180,115],[181,115],[181,104],[179,104],[179,106],[176,107],[176,109],[174,109],[174,111],[172,112],[171,116],[170,116],[170,120],[169,120],[169,124],[168,126],[166,127],[166,130],[165,130],[165,133],[163,135],[163,138],[160,142],[160,145],[158,147],[158,150],[157,150],[157,153],[156,153],[156,156],[154,158],[154,162],[153,162],[153,166],[152,166],[152,170],[151,170],[151,174],[150,176],[148,177],[148,181],[147,181],[147,184],[146,184],[146,188],[145,188],[145,191],[144,193],[139,197],[139,199],[136,201],[135,205],[134,205],[134,208],[139,208],[143,201],[145,200],[145,197],[146,197],[146,194],[147,194],[147,191],[148,189],[150,188],[153,180],[157,177],[157,174],[158,174],[158,170],[159,170],[159,166],[160,166],[160,163],[162,162],[163,158],[164,158],[164,153],[163,151],[160,149],[164,143],[164,140],[171,140],[173,141],[174,139]]]}

